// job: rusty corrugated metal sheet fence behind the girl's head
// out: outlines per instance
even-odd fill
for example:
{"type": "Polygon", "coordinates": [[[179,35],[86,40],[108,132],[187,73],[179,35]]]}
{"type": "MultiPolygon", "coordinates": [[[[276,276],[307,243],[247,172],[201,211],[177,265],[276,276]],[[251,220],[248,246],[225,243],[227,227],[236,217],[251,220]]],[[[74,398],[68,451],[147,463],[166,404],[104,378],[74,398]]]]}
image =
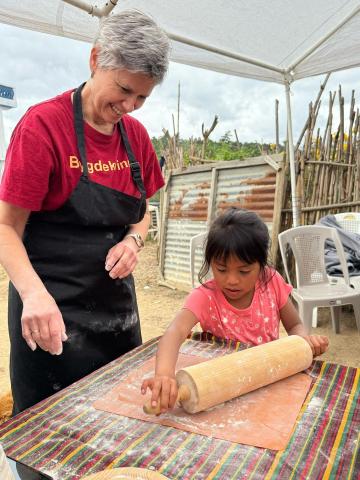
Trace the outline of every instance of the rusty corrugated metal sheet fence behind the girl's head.
{"type": "MultiPolygon", "coordinates": [[[[191,167],[174,173],[165,195],[160,245],[161,270],[169,283],[191,288],[190,240],[207,229],[211,218],[234,206],[257,212],[271,233],[277,172],[261,157],[191,167]]],[[[195,270],[202,250],[195,253],[195,270]]]]}

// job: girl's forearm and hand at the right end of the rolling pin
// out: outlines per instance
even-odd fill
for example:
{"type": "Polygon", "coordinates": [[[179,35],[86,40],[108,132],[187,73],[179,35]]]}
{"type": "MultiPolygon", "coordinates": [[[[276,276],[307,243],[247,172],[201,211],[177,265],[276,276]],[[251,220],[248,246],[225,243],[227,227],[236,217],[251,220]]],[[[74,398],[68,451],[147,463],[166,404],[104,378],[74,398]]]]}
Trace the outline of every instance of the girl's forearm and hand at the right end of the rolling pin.
{"type": "Polygon", "coordinates": [[[329,340],[323,335],[308,335],[299,314],[290,298],[280,310],[280,318],[288,335],[303,337],[311,347],[313,356],[317,357],[327,350],[329,340]]]}

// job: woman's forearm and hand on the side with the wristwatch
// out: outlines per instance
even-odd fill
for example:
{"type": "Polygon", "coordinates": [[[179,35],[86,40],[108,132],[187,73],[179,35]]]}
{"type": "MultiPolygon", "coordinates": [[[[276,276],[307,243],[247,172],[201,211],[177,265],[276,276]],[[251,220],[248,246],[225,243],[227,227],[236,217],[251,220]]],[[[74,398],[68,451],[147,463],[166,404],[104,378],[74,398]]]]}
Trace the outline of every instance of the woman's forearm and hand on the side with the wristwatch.
{"type": "MultiPolygon", "coordinates": [[[[150,225],[149,201],[146,200],[144,218],[134,225],[130,225],[129,233],[138,233],[145,241],[150,225]]],[[[126,236],[121,242],[110,248],[105,259],[105,270],[111,278],[125,278],[134,271],[138,262],[138,253],[141,249],[132,237],[126,236]]]]}

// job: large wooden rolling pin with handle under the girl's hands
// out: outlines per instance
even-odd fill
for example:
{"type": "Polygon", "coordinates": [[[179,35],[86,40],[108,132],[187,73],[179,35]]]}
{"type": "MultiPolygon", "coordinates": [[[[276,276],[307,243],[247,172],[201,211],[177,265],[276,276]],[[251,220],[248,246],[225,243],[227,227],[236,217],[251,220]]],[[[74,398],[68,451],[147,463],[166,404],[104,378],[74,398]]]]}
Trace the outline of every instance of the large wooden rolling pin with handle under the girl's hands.
{"type": "MultiPolygon", "coordinates": [[[[178,402],[196,413],[310,367],[310,345],[302,337],[288,337],[182,368],[176,373],[178,402]]],[[[160,413],[160,402],[144,405],[148,414],[160,413]]]]}

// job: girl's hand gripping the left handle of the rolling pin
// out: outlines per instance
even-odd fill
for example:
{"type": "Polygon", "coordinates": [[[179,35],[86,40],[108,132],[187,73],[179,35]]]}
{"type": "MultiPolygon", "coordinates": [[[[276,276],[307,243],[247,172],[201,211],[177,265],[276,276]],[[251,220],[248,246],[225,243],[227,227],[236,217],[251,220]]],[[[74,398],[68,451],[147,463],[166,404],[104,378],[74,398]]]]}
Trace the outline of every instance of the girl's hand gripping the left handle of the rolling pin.
{"type": "Polygon", "coordinates": [[[141,385],[141,393],[145,395],[148,388],[152,391],[151,406],[153,408],[157,406],[158,402],[160,402],[160,413],[174,408],[178,392],[175,377],[156,375],[147,378],[141,385]]]}

